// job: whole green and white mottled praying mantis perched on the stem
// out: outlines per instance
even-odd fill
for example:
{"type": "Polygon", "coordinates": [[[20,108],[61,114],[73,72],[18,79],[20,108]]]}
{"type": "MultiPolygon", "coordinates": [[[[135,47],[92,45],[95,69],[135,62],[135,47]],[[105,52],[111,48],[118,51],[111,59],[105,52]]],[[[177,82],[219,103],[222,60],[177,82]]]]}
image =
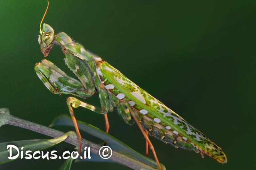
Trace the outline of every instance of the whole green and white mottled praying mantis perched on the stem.
{"type": "Polygon", "coordinates": [[[106,132],[109,130],[107,113],[115,107],[124,121],[139,126],[146,139],[146,155],[148,146],[152,150],[158,168],[161,169],[155,149],[148,134],[174,147],[194,150],[204,157],[204,153],[220,163],[227,163],[222,149],[214,144],[202,132],[186,122],[180,115],[141,89],[126,78],[101,57],[92,54],[81,44],[74,42],[66,33],[55,34],[48,24],[43,24],[49,2],[40,23],[38,42],[46,57],[54,44],[60,45],[68,68],[78,80],[69,77],[52,62],[44,59],[36,63],[35,71],[44,85],[54,94],[70,94],[86,99],[99,94],[100,107],[92,106],[75,97],[68,97],[67,105],[78,137],[78,151],[81,152],[81,135],[76,123],[73,108],[84,107],[105,117],[106,132]]]}

